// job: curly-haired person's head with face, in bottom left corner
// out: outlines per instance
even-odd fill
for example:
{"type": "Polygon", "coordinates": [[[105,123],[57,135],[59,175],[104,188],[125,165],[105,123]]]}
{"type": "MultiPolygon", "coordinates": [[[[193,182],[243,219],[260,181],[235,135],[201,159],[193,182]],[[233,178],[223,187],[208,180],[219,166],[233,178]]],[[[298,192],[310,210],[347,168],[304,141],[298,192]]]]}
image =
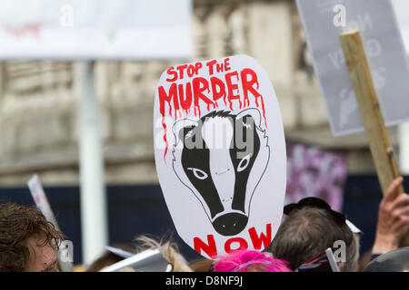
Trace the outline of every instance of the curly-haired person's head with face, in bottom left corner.
{"type": "Polygon", "coordinates": [[[0,271],[54,272],[64,236],[35,205],[0,203],[0,271]]]}

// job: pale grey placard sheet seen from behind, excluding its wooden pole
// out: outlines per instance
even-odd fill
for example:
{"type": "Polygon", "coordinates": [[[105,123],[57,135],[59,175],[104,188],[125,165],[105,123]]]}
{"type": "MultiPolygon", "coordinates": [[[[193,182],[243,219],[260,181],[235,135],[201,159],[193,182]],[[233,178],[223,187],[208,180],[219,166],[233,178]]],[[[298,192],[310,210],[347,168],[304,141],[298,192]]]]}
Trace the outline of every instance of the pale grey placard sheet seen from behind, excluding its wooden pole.
{"type": "Polygon", "coordinates": [[[386,126],[409,120],[409,69],[389,0],[297,0],[334,136],[364,131],[339,34],[358,30],[386,126]]]}

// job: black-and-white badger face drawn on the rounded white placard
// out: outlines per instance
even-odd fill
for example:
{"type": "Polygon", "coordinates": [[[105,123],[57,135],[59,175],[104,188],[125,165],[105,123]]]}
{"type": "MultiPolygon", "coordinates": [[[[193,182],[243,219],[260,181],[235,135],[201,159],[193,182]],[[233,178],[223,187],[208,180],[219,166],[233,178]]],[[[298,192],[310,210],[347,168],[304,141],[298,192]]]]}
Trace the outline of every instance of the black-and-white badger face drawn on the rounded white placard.
{"type": "Polygon", "coordinates": [[[217,233],[239,234],[270,160],[260,111],[212,111],[196,121],[176,121],[173,133],[176,176],[202,203],[217,233]]]}

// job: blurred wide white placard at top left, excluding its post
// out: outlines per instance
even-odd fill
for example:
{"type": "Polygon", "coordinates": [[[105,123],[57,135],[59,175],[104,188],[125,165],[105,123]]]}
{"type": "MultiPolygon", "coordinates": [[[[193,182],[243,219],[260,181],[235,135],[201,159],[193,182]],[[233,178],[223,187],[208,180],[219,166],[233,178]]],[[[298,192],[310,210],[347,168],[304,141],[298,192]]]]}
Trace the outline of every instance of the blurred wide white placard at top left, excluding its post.
{"type": "Polygon", "coordinates": [[[0,3],[0,59],[189,59],[191,0],[0,3]]]}

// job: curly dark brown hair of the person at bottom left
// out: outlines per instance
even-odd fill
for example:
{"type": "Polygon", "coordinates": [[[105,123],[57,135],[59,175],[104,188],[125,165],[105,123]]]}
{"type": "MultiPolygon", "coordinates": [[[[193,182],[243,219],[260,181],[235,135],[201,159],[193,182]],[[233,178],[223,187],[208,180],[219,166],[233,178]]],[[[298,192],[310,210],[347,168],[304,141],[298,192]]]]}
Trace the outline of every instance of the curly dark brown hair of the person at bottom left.
{"type": "Polygon", "coordinates": [[[44,234],[44,246],[58,250],[64,235],[47,221],[35,205],[0,203],[0,272],[25,271],[30,252],[27,239],[44,234]]]}

